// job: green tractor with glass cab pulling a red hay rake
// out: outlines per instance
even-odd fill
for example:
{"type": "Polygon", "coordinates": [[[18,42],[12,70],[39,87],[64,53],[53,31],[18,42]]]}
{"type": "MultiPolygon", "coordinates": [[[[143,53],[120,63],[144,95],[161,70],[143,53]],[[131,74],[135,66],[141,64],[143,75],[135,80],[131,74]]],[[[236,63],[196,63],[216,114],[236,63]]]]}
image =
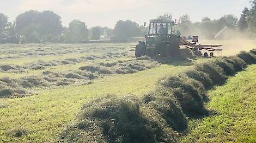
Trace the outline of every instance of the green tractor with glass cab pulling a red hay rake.
{"type": "MultiPolygon", "coordinates": [[[[144,23],[145,25],[145,23],[144,23]]],[[[135,56],[174,56],[179,55],[180,31],[175,31],[175,22],[162,19],[151,19],[148,35],[135,49],[135,56]]]]}

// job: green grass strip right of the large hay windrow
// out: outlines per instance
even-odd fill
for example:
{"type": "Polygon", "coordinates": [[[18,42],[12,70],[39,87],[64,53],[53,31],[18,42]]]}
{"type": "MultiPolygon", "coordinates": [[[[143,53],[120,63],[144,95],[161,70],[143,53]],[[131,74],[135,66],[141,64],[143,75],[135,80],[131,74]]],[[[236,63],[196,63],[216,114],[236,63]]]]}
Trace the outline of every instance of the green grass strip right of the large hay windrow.
{"type": "Polygon", "coordinates": [[[207,108],[216,115],[189,122],[181,142],[256,142],[256,65],[209,91],[207,108]]]}

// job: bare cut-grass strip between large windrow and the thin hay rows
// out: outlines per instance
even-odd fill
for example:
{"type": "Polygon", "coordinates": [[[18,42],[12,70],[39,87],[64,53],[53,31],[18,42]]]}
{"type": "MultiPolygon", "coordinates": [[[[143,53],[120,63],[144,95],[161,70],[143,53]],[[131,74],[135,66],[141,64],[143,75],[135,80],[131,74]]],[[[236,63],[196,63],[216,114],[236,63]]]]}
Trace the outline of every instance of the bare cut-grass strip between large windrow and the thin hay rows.
{"type": "Polygon", "coordinates": [[[106,94],[142,96],[154,90],[166,75],[185,72],[190,66],[168,66],[135,74],[109,76],[92,85],[43,90],[38,95],[18,99],[0,99],[0,140],[4,142],[54,142],[74,119],[84,102],[106,94]],[[27,134],[13,137],[11,131],[26,127],[27,134]]]}

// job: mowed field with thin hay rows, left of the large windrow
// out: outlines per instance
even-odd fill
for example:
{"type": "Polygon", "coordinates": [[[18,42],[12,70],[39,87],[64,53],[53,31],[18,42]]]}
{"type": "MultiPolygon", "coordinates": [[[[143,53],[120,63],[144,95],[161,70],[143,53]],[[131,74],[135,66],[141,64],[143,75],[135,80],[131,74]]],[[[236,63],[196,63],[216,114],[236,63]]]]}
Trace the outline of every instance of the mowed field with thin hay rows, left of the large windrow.
{"type": "MultiPolygon", "coordinates": [[[[208,44],[215,42],[226,43],[222,55],[256,45],[208,44]]],[[[0,141],[57,142],[84,102],[107,94],[144,95],[162,77],[206,60],[135,59],[129,45],[1,44],[0,141]]]]}

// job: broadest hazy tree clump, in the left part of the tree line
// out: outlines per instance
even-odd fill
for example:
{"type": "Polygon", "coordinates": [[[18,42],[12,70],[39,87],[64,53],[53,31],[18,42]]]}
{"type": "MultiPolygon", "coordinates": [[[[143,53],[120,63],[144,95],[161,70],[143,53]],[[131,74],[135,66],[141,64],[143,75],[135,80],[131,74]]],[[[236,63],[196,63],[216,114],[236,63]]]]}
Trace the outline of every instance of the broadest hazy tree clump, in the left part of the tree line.
{"type": "Polygon", "coordinates": [[[25,35],[28,43],[39,43],[46,35],[62,34],[61,17],[52,11],[26,11],[16,18],[17,34],[25,35]]]}

